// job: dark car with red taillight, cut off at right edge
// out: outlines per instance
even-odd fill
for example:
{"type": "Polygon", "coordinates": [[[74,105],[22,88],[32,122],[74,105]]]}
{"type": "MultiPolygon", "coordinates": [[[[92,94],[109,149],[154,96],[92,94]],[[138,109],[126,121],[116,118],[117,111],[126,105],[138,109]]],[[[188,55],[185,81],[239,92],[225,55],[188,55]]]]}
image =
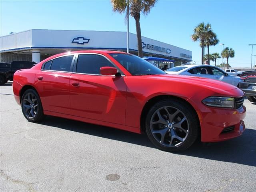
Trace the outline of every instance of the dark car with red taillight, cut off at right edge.
{"type": "Polygon", "coordinates": [[[241,74],[240,89],[246,93],[249,101],[256,102],[256,71],[245,71],[241,74]]]}

